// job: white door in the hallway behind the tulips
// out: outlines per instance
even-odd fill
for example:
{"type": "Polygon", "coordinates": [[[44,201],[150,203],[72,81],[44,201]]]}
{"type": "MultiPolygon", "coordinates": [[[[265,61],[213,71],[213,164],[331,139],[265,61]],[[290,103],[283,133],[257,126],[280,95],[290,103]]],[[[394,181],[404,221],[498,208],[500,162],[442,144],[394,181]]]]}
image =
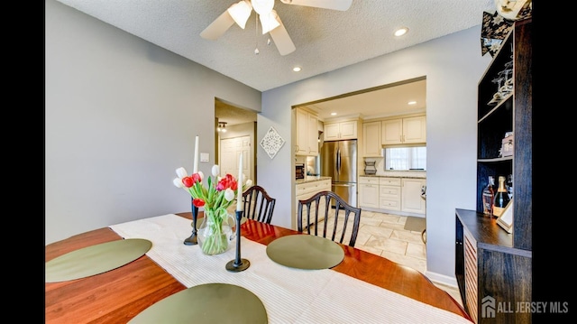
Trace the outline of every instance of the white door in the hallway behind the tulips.
{"type": "Polygon", "coordinates": [[[252,179],[251,136],[240,136],[220,140],[220,176],[230,173],[238,178],[238,160],[243,153],[243,173],[246,179],[252,179]]]}

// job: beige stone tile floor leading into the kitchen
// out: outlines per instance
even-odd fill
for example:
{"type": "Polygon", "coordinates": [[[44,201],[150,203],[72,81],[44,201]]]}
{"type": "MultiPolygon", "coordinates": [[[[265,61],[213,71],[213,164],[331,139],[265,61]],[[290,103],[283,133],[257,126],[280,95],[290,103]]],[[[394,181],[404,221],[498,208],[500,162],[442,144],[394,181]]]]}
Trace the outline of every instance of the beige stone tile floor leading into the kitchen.
{"type": "MultiPolygon", "coordinates": [[[[354,247],[426,274],[426,245],[420,232],[404,229],[406,221],[406,216],[362,210],[354,247]]],[[[458,287],[433,283],[463,305],[458,287]]]]}

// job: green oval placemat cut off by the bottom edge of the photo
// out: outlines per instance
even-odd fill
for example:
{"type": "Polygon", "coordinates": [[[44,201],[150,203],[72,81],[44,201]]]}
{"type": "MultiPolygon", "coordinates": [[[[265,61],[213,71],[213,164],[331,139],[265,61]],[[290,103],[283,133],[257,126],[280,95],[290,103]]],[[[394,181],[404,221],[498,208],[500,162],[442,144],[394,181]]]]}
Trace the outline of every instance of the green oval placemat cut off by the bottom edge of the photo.
{"type": "Polygon", "coordinates": [[[228,283],[190,287],[156,302],[129,323],[267,323],[267,311],[251,291],[228,283]]]}

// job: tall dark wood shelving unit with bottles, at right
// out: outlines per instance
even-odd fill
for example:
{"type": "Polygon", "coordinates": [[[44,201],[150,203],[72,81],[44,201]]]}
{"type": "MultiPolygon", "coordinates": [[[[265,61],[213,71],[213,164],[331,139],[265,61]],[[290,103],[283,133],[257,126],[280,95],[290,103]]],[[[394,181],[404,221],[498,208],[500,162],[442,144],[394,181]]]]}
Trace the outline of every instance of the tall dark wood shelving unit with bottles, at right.
{"type": "Polygon", "coordinates": [[[517,21],[478,87],[476,210],[455,210],[455,277],[463,306],[479,323],[530,323],[530,312],[499,311],[532,301],[532,19],[517,21]],[[498,104],[493,80],[513,61],[513,91],[498,104]],[[501,157],[507,132],[513,155],[501,157]],[[482,213],[489,176],[513,176],[513,231],[482,213]],[[502,309],[501,309],[502,310],[502,309]]]}

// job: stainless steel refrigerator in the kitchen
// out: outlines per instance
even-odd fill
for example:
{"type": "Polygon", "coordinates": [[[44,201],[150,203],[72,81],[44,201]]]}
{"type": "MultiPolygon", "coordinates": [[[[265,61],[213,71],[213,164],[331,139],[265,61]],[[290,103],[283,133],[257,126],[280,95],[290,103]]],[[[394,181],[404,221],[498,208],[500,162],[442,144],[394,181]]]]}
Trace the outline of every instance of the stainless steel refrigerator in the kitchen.
{"type": "Polygon", "coordinates": [[[320,166],[321,176],[333,179],[332,190],[357,207],[357,140],[323,143],[320,166]]]}

